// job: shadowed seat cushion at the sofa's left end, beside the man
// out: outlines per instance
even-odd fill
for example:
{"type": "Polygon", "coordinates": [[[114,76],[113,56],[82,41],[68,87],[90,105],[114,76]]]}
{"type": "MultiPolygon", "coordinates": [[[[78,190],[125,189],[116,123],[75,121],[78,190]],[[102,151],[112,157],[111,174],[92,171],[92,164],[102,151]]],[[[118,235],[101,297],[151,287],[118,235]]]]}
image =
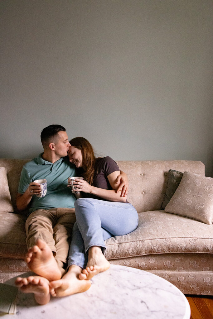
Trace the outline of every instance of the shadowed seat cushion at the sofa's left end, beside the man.
{"type": "Polygon", "coordinates": [[[25,259],[25,220],[23,215],[0,213],[0,257],[25,259]]]}

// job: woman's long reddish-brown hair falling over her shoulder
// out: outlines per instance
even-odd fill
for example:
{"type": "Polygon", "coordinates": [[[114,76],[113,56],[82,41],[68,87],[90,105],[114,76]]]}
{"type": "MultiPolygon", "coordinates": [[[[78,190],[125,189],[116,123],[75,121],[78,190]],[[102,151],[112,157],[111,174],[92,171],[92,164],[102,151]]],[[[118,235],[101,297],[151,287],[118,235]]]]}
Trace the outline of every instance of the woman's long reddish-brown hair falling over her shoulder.
{"type": "Polygon", "coordinates": [[[71,146],[81,150],[83,178],[93,186],[93,178],[95,175],[95,155],[92,145],[84,137],[74,137],[70,140],[71,146]]]}

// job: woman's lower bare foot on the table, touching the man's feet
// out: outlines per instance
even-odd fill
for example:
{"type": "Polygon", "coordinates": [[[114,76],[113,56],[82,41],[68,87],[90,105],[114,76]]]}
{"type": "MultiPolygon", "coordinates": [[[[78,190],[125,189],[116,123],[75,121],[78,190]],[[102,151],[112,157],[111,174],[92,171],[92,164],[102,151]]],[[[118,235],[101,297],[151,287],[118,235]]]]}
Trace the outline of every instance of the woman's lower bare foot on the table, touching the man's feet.
{"type": "Polygon", "coordinates": [[[79,266],[70,266],[63,278],[50,282],[50,294],[53,297],[64,297],[88,290],[91,282],[89,280],[79,280],[78,276],[81,271],[82,269],[79,266]]]}

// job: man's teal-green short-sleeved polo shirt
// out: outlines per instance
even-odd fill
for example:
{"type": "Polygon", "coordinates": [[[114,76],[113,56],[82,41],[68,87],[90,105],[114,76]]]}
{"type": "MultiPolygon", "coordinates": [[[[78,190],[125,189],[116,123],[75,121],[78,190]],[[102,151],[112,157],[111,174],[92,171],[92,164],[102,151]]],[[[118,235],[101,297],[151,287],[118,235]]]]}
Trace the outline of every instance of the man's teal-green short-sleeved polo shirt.
{"type": "Polygon", "coordinates": [[[54,164],[38,157],[23,166],[18,192],[24,194],[30,182],[38,179],[47,180],[47,194],[44,197],[34,195],[30,201],[30,213],[37,209],[57,207],[73,208],[76,198],[71,188],[67,187],[67,179],[76,176],[75,166],[67,157],[58,159],[54,164]]]}

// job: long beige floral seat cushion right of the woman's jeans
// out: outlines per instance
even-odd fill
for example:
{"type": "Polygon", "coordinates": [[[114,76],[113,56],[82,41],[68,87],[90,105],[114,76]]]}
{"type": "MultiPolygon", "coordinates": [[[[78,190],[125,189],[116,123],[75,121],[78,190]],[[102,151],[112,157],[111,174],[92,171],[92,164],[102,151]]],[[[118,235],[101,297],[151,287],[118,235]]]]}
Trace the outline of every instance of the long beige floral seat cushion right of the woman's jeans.
{"type": "Polygon", "coordinates": [[[138,227],[130,234],[106,241],[106,258],[152,254],[213,252],[213,226],[165,211],[141,212],[138,227]]]}

